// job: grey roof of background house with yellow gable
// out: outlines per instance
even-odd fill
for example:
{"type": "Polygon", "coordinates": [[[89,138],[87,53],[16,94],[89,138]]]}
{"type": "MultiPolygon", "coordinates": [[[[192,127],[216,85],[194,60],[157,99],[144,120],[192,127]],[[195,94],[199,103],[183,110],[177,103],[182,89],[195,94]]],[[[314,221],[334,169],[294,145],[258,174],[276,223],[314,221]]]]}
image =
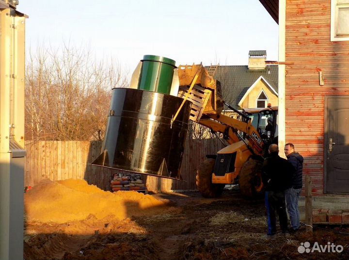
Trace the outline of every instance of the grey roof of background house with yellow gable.
{"type": "Polygon", "coordinates": [[[247,65],[219,66],[215,78],[221,81],[225,102],[238,108],[238,103],[256,80],[262,76],[267,85],[278,92],[278,66],[267,65],[264,70],[249,70],[247,65]],[[268,68],[270,74],[268,73],[268,68]]]}

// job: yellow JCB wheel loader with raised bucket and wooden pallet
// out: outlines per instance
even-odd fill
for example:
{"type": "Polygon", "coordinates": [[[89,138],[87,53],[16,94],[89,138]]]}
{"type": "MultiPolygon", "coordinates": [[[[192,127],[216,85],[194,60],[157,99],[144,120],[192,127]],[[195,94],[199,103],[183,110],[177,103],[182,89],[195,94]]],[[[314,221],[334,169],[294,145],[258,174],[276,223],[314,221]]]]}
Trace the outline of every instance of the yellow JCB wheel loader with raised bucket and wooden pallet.
{"type": "MultiPolygon", "coordinates": [[[[267,156],[269,145],[278,142],[278,107],[242,111],[231,107],[222,99],[220,82],[209,76],[202,65],[179,66],[180,96],[185,97],[183,92],[188,93],[188,84],[198,71],[200,80],[190,91],[189,99],[194,98],[200,88],[205,88],[211,91],[211,100],[207,103],[202,101],[202,114],[192,116],[190,120],[206,126],[212,133],[221,133],[228,145],[215,155],[206,155],[207,159],[196,172],[197,188],[203,197],[214,198],[222,194],[226,184],[239,184],[243,197],[258,197],[263,191],[263,159],[267,156]],[[235,112],[235,117],[222,114],[223,106],[235,112]]],[[[195,101],[194,105],[200,107],[195,101]]],[[[197,110],[194,106],[192,115],[197,110]]]]}

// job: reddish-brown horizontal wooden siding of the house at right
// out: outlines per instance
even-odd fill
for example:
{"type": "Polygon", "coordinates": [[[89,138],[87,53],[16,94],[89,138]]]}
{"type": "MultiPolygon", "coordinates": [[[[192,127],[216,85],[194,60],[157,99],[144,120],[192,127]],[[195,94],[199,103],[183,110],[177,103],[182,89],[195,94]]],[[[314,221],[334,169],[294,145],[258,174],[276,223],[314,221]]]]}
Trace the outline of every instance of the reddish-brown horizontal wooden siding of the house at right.
{"type": "Polygon", "coordinates": [[[324,191],[324,100],[349,94],[349,42],[331,42],[330,0],[286,0],[286,142],[304,157],[313,194],[324,191]],[[319,71],[324,85],[319,85],[319,71]]]}

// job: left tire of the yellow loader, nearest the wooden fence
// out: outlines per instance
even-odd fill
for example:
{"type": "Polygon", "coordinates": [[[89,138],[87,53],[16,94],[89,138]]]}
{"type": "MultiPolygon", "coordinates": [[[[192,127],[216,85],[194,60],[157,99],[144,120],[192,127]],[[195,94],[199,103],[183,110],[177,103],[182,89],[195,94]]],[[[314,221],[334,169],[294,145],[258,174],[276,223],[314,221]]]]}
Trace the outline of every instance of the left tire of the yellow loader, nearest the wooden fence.
{"type": "Polygon", "coordinates": [[[225,186],[225,184],[212,184],[215,162],[215,159],[206,159],[196,171],[196,186],[204,198],[220,197],[225,186]]]}

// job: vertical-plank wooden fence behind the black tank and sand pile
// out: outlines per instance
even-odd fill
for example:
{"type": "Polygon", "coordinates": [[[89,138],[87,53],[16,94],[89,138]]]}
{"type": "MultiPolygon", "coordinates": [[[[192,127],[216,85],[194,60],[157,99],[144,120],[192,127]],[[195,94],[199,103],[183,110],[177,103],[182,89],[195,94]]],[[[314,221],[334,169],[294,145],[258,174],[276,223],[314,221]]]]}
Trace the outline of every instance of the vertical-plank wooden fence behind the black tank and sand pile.
{"type": "MultiPolygon", "coordinates": [[[[43,179],[52,181],[84,179],[103,190],[110,189],[115,169],[92,166],[99,155],[102,142],[89,141],[39,141],[26,142],[25,186],[35,186],[43,179]]],[[[181,174],[184,181],[143,175],[150,191],[195,190],[196,169],[206,159],[206,154],[216,154],[223,148],[219,139],[187,139],[181,174]]]]}

